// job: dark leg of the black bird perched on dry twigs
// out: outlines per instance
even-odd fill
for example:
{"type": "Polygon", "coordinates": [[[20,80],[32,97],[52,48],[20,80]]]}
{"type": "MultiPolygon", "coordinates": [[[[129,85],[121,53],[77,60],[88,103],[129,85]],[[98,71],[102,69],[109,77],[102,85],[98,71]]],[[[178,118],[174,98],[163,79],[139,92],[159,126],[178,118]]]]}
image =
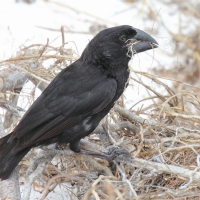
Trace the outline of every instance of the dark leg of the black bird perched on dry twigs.
{"type": "Polygon", "coordinates": [[[97,157],[97,158],[105,159],[110,164],[112,164],[112,159],[107,154],[99,153],[99,152],[95,152],[95,151],[89,151],[89,150],[86,150],[86,149],[81,149],[80,148],[80,140],[77,140],[75,142],[70,143],[69,147],[72,151],[74,151],[76,153],[81,153],[81,154],[90,155],[90,156],[94,156],[94,157],[97,157]]]}

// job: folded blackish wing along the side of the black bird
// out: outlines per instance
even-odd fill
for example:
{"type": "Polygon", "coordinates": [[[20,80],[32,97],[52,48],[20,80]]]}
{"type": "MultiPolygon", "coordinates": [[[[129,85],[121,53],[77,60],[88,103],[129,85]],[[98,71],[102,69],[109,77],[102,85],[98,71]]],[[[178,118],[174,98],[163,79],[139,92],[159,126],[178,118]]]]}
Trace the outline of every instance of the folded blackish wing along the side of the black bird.
{"type": "Polygon", "coordinates": [[[115,79],[95,71],[82,73],[79,81],[71,75],[61,72],[24,115],[13,134],[21,141],[18,151],[59,135],[113,100],[115,79]]]}

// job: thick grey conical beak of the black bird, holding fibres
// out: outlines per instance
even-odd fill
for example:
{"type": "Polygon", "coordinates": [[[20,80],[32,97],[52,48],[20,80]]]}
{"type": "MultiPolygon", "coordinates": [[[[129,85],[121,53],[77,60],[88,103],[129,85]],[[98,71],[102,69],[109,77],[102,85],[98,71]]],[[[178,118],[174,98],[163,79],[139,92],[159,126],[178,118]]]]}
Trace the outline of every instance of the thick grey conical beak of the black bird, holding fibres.
{"type": "Polygon", "coordinates": [[[133,29],[137,32],[133,38],[133,41],[135,42],[132,43],[132,48],[134,49],[135,53],[140,53],[158,47],[158,42],[149,34],[136,28],[133,29]]]}

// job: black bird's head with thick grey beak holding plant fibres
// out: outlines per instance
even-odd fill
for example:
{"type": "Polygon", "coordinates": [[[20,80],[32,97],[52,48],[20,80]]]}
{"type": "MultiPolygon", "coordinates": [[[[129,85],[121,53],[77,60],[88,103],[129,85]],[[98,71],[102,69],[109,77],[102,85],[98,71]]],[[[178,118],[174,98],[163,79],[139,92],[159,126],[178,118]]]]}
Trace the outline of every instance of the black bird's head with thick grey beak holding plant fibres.
{"type": "Polygon", "coordinates": [[[94,64],[105,63],[106,66],[113,62],[128,62],[134,54],[157,47],[157,41],[149,34],[123,25],[99,32],[89,42],[82,57],[88,58],[89,61],[92,60],[94,64]],[[90,55],[87,52],[90,52],[90,55]]]}

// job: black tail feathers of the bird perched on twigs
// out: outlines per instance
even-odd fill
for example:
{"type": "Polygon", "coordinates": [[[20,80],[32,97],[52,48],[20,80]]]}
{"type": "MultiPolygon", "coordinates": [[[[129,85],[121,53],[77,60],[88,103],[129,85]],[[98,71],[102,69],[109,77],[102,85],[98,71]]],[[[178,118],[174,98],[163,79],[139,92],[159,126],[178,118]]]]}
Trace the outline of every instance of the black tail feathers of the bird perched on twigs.
{"type": "Polygon", "coordinates": [[[0,139],[0,179],[5,180],[9,178],[12,171],[18,165],[20,160],[28,153],[29,149],[20,151],[14,154],[14,148],[17,144],[17,139],[13,139],[11,142],[9,138],[12,133],[0,139]]]}

